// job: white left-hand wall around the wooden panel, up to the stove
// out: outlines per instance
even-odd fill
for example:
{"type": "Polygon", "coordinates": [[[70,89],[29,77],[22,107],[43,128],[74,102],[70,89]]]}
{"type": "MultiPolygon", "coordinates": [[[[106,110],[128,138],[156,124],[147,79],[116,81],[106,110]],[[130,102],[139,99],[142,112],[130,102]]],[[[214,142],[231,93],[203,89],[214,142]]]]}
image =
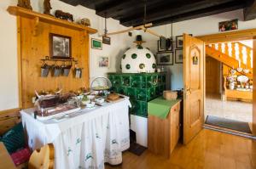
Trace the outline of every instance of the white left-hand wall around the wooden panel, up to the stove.
{"type": "MultiPolygon", "coordinates": [[[[0,110],[17,108],[18,99],[18,70],[17,70],[17,33],[15,16],[10,15],[6,9],[9,5],[16,5],[17,0],[0,1],[0,110]]],[[[34,11],[43,13],[44,0],[31,0],[34,11]]],[[[95,10],[82,6],[73,7],[59,0],[52,0],[52,12],[61,9],[74,15],[75,19],[89,18],[91,27],[102,34],[104,19],[96,15],[95,10]]],[[[119,25],[118,20],[108,19],[108,31],[125,29],[119,25]]],[[[90,37],[98,37],[98,34],[90,37]]],[[[122,56],[125,49],[131,46],[134,37],[121,34],[111,37],[111,45],[103,44],[102,50],[90,49],[90,81],[96,76],[106,76],[107,72],[113,72],[119,68],[119,56],[122,56]],[[99,56],[110,57],[109,69],[99,68],[97,60],[99,56]],[[118,60],[118,61],[116,61],[118,60]]]]}

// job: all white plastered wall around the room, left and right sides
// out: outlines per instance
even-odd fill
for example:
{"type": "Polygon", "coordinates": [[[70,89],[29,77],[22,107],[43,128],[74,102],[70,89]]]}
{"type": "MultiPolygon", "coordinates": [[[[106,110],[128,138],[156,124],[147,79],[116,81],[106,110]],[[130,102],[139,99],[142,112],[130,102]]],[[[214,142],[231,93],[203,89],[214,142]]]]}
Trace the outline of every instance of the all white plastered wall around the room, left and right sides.
{"type": "MultiPolygon", "coordinates": [[[[43,12],[44,0],[31,0],[32,8],[35,11],[43,12]]],[[[17,0],[0,1],[0,110],[8,110],[18,107],[18,70],[17,70],[17,39],[15,16],[8,14],[6,8],[9,5],[16,5],[17,0]]],[[[51,1],[53,11],[61,9],[74,15],[76,19],[89,18],[91,27],[96,28],[100,33],[104,29],[104,19],[95,14],[94,10],[82,6],[73,7],[59,0],[51,1]]],[[[256,27],[256,20],[242,21],[242,10],[236,10],[224,14],[216,14],[195,20],[186,20],[173,24],[173,36],[182,35],[183,32],[191,33],[194,36],[206,35],[218,32],[218,22],[231,19],[239,19],[239,30],[256,27]]],[[[108,31],[125,29],[119,25],[118,20],[108,19],[108,31]]],[[[162,25],[152,28],[160,35],[171,37],[171,25],[162,25]]],[[[127,34],[111,36],[111,45],[103,44],[102,50],[90,49],[90,81],[96,76],[105,76],[107,72],[119,70],[120,56],[125,49],[131,47],[136,34],[142,34],[143,40],[147,41],[144,46],[157,52],[157,37],[140,31],[134,31],[133,37],[127,34]],[[99,56],[110,57],[110,68],[102,69],[97,65],[99,56]]],[[[91,37],[100,38],[97,34],[91,37]]],[[[183,65],[166,66],[169,72],[169,87],[172,89],[183,87],[183,65]]]]}

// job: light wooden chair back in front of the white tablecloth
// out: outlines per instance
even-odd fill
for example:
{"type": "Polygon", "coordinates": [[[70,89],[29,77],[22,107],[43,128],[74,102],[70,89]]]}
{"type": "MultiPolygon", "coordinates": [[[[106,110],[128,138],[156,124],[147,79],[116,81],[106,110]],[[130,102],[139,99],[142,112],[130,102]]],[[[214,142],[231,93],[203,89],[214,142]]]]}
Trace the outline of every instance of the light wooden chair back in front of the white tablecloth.
{"type": "Polygon", "coordinates": [[[28,169],[53,169],[55,164],[55,149],[53,144],[47,144],[41,149],[33,151],[28,169]]]}

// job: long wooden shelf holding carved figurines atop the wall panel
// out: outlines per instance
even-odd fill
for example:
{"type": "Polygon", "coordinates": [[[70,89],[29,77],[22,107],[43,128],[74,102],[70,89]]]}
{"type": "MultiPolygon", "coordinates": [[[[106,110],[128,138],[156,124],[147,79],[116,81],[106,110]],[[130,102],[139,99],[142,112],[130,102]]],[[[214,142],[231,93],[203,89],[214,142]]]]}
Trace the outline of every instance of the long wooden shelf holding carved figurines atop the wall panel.
{"type": "Polygon", "coordinates": [[[22,17],[26,17],[26,18],[35,20],[35,23],[36,23],[35,26],[38,26],[38,22],[45,22],[45,23],[49,23],[52,25],[60,25],[62,27],[67,27],[67,28],[70,28],[73,30],[87,31],[87,33],[89,33],[89,34],[94,34],[97,32],[96,29],[86,27],[83,25],[74,24],[67,20],[57,19],[54,16],[50,16],[47,14],[40,14],[40,13],[34,12],[32,10],[26,9],[26,8],[9,6],[9,8],[7,8],[7,11],[9,12],[9,14],[13,14],[16,16],[19,15],[22,17]]]}

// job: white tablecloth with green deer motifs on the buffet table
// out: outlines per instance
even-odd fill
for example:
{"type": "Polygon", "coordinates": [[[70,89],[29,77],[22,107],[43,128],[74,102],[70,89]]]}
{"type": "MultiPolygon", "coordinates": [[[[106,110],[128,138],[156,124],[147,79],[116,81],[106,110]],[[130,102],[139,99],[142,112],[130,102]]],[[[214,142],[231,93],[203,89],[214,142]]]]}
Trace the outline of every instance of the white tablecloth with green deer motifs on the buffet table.
{"type": "Polygon", "coordinates": [[[67,119],[38,121],[33,109],[21,110],[28,145],[38,149],[55,146],[55,168],[104,168],[104,162],[122,162],[122,151],[130,147],[129,99],[94,109],[80,110],[67,119]]]}

